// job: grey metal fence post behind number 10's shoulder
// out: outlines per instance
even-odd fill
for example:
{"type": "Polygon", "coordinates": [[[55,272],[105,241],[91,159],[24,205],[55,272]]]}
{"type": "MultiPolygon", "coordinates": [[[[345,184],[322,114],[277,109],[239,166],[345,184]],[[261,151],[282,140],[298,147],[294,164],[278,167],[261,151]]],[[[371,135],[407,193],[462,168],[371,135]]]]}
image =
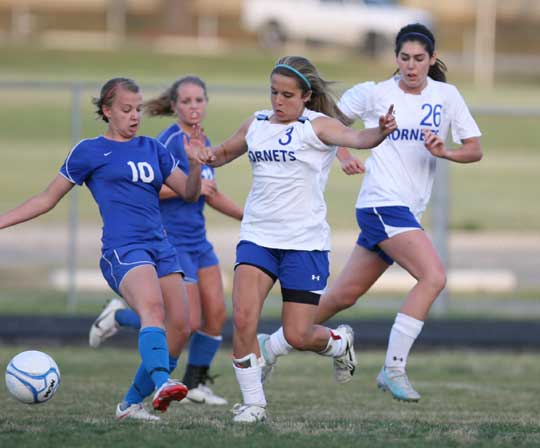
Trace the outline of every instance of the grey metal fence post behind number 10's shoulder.
{"type": "MultiPolygon", "coordinates": [[[[81,97],[83,86],[74,83],[71,87],[71,144],[81,139],[81,97]]],[[[69,196],[69,227],[67,255],[67,309],[70,314],[77,310],[77,234],[79,230],[79,190],[73,188],[69,196]]]]}

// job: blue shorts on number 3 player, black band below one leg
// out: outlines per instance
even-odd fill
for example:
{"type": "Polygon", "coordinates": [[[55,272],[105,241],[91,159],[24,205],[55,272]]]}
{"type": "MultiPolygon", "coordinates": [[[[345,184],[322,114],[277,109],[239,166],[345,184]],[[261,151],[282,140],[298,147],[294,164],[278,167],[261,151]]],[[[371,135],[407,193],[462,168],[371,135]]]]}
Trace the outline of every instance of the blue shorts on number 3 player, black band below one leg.
{"type": "Polygon", "coordinates": [[[284,302],[317,305],[330,275],[328,251],[270,249],[250,241],[236,246],[236,264],[259,268],[279,280],[284,302]]]}

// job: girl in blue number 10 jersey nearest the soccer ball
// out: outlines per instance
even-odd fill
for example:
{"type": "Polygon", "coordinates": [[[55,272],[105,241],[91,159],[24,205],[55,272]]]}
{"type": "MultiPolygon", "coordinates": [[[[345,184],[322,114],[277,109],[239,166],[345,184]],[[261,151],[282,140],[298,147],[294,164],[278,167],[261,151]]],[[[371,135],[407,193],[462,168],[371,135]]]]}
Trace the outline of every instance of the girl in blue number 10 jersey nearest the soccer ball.
{"type": "MultiPolygon", "coordinates": [[[[141,316],[142,363],[116,418],[156,420],[142,406],[153,391],[152,406],[165,411],[182,400],[187,388],[169,372],[189,336],[188,302],[176,251],[167,241],[159,210],[163,183],[188,201],[200,193],[200,164],[190,175],[157,140],[137,136],[142,96],[134,81],[114,78],[94,99],[107,124],[104,135],[75,145],[59,174],[40,194],[0,215],[0,228],[51,210],[75,184],[86,183],[103,219],[102,273],[110,287],[141,316]]],[[[191,137],[190,154],[204,149],[204,138],[191,137]]]]}

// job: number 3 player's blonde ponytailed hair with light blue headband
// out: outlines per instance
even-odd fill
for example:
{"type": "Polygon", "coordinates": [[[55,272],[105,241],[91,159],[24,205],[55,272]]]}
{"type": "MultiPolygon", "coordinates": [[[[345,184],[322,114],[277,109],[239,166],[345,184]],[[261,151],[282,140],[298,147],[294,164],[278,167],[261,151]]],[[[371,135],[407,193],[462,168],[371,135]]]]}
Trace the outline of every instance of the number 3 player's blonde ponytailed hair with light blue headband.
{"type": "Polygon", "coordinates": [[[295,78],[304,94],[311,90],[311,98],[306,103],[308,109],[337,118],[346,126],[352,124],[352,120],[345,116],[336,104],[330,90],[330,85],[333,82],[321,78],[315,66],[308,59],[302,56],[282,57],[277,61],[270,76],[273,74],[295,78]]]}

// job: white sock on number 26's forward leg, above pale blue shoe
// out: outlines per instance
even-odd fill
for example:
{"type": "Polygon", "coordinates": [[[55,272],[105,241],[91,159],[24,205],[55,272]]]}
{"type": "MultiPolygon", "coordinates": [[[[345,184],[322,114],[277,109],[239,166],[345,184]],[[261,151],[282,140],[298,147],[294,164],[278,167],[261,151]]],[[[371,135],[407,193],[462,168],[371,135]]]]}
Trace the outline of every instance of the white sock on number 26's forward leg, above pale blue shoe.
{"type": "Polygon", "coordinates": [[[422,331],[424,322],[407,316],[406,314],[398,313],[388,340],[388,350],[386,352],[386,360],[384,366],[405,371],[407,365],[407,357],[411,350],[414,341],[422,331]]]}

